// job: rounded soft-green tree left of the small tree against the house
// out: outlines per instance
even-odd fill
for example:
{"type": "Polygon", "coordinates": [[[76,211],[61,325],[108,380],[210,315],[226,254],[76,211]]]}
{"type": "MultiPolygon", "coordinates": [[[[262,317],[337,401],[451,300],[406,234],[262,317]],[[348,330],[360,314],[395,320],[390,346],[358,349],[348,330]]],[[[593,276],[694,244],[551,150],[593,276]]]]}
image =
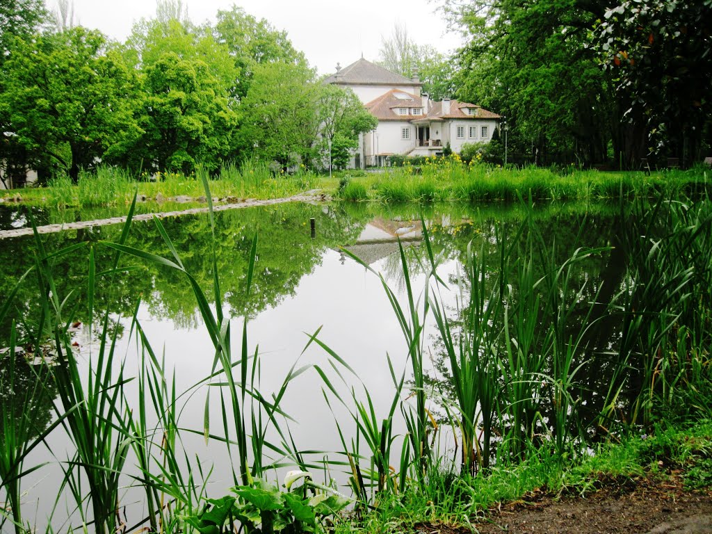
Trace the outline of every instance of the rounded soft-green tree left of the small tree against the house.
{"type": "Polygon", "coordinates": [[[314,71],[301,63],[256,65],[241,105],[239,153],[282,167],[310,161],[319,129],[319,94],[314,71]]]}

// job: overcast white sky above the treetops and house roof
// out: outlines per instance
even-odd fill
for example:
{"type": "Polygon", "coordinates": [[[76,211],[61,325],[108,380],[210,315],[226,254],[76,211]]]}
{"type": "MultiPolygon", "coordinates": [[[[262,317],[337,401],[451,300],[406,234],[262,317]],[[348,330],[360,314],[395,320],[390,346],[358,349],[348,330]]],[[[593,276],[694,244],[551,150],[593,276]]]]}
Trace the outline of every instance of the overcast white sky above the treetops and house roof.
{"type": "MultiPolygon", "coordinates": [[[[214,21],[219,9],[236,4],[249,14],[286,30],[295,48],[303,51],[321,74],[333,73],[336,63],[347,66],[363,56],[377,59],[381,36],[396,23],[404,24],[414,41],[441,52],[460,46],[455,33],[446,33],[438,4],[432,0],[183,0],[195,23],[214,21]]],[[[54,9],[56,0],[46,0],[54,9]]],[[[155,0],[74,0],[75,23],[97,28],[124,40],[134,21],[155,14],[155,0]]]]}

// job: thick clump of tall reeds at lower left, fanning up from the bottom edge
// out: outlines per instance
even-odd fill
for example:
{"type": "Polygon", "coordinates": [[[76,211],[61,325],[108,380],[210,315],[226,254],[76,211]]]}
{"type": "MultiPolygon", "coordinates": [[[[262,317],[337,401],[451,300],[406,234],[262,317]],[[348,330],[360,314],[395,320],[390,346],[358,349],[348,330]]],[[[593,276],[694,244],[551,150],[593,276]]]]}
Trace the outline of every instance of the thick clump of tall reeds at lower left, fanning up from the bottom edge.
{"type": "MultiPolygon", "coordinates": [[[[127,236],[133,207],[132,205],[129,211],[122,239],[127,236]]],[[[57,354],[58,365],[53,366],[51,371],[60,397],[61,409],[58,409],[58,417],[76,449],[66,468],[66,480],[74,480],[72,472],[75,468],[83,471],[88,481],[95,531],[107,533],[118,523],[119,478],[129,450],[129,441],[122,430],[125,420],[122,387],[126,382],[122,365],[118,375],[114,376],[117,330],[110,333],[110,312],[106,310],[101,320],[100,347],[96,354],[90,355],[88,377],[83,377],[69,334],[76,305],[69,308],[70,295],[61,297],[58,294],[51,255],[45,252],[36,231],[35,241],[35,271],[43,300],[34,343],[36,347],[43,346],[48,333],[53,339],[53,350],[57,354]]],[[[112,267],[107,271],[97,272],[94,250],[90,248],[87,293],[90,335],[93,331],[93,299],[97,279],[110,279],[116,273],[118,261],[117,254],[112,267]]],[[[78,504],[85,498],[76,492],[75,496],[80,499],[78,504]]]]}

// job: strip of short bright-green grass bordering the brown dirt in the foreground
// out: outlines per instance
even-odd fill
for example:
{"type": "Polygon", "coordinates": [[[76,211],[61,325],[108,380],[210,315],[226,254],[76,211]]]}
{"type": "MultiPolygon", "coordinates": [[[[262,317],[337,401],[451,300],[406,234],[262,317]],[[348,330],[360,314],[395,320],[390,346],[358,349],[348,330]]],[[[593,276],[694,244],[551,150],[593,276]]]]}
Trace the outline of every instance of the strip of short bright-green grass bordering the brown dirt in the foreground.
{"type": "Polygon", "coordinates": [[[686,489],[704,489],[712,486],[711,469],[710,420],[658,426],[651,434],[627,434],[617,442],[597,445],[579,459],[533,451],[524,461],[493,466],[475,476],[434,470],[425,486],[384,496],[377,509],[349,528],[379,533],[409,532],[422,524],[434,532],[438,525],[467,528],[486,521],[485,512],[500,503],[526,503],[542,495],[590,496],[607,488],[620,491],[646,477],[665,484],[679,475],[686,489]]]}

